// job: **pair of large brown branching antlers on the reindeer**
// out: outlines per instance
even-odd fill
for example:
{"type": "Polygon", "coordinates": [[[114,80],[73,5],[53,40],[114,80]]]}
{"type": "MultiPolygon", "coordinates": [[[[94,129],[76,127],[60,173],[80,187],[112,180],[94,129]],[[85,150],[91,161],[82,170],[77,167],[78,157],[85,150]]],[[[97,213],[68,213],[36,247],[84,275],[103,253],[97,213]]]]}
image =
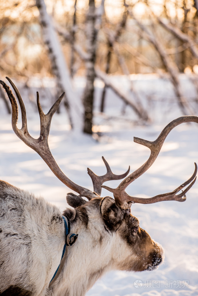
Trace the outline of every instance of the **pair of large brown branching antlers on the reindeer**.
{"type": "Polygon", "coordinates": [[[94,187],[94,192],[92,192],[91,190],[84,188],[82,186],[79,186],[76,183],[74,183],[73,181],[71,181],[59,168],[59,166],[55,162],[55,160],[49,150],[47,140],[48,140],[48,136],[49,136],[50,123],[52,120],[52,116],[54,115],[54,113],[58,109],[58,106],[59,106],[61,100],[63,99],[63,96],[65,93],[63,93],[58,98],[58,100],[53,104],[53,106],[51,107],[49,112],[45,115],[43,113],[43,110],[42,110],[40,102],[39,102],[39,93],[37,92],[37,106],[38,106],[39,115],[40,115],[41,132],[40,132],[40,137],[38,139],[34,139],[28,133],[25,106],[23,104],[23,100],[20,96],[20,93],[19,93],[18,89],[16,88],[16,86],[14,85],[14,83],[8,77],[6,77],[6,78],[8,79],[10,84],[12,85],[12,87],[17,95],[17,98],[18,98],[19,104],[20,104],[20,108],[21,108],[21,114],[22,114],[22,128],[18,129],[16,126],[17,117],[18,117],[17,101],[16,101],[15,97],[13,96],[12,91],[7,86],[7,84],[4,83],[3,81],[0,81],[0,83],[3,85],[5,91],[7,92],[9,100],[12,104],[12,128],[13,128],[14,132],[26,145],[28,145],[29,147],[34,149],[42,157],[42,159],[47,163],[47,165],[52,170],[52,172],[55,174],[55,176],[57,176],[59,178],[59,180],[61,182],[63,182],[63,184],[65,184],[70,189],[74,190],[75,192],[78,192],[80,194],[80,196],[87,197],[90,200],[91,198],[100,195],[101,187],[103,187],[103,188],[109,190],[110,192],[113,192],[116,204],[123,209],[129,208],[131,203],[135,203],[135,202],[145,204],[145,203],[159,202],[162,200],[177,200],[180,202],[186,200],[186,196],[185,196],[186,192],[191,188],[191,186],[196,181],[196,174],[197,174],[197,164],[196,163],[195,163],[195,170],[194,170],[194,173],[191,176],[191,178],[189,178],[189,180],[184,182],[182,185],[180,185],[173,192],[160,194],[160,195],[157,195],[157,196],[154,196],[151,198],[138,198],[138,197],[132,197],[129,194],[127,194],[125,192],[125,189],[127,188],[127,186],[130,183],[132,183],[135,179],[137,179],[139,176],[141,176],[146,170],[148,170],[148,168],[150,168],[150,166],[154,163],[154,161],[156,160],[156,158],[160,152],[162,144],[164,143],[164,141],[165,141],[167,135],[170,133],[170,131],[175,126],[178,126],[181,123],[186,123],[186,122],[198,123],[197,116],[182,116],[182,117],[179,117],[179,118],[173,120],[171,123],[169,123],[163,129],[163,131],[160,133],[159,137],[155,141],[147,141],[144,139],[134,137],[134,142],[148,147],[151,150],[151,155],[150,155],[149,159],[146,161],[146,163],[144,163],[140,168],[138,168],[133,173],[131,173],[127,178],[125,178],[125,177],[127,176],[130,168],[127,170],[126,173],[124,173],[122,175],[115,175],[112,173],[108,163],[106,162],[106,160],[103,157],[103,161],[104,161],[106,168],[107,168],[107,173],[105,175],[97,176],[97,175],[95,175],[95,173],[93,173],[88,168],[88,174],[92,178],[93,187],[94,187]],[[115,189],[110,188],[108,186],[102,186],[102,184],[105,181],[119,180],[122,178],[125,178],[125,179],[115,189]],[[187,186],[187,185],[189,185],[189,186],[187,186]],[[177,195],[177,193],[185,186],[187,186],[186,189],[177,195]]]}

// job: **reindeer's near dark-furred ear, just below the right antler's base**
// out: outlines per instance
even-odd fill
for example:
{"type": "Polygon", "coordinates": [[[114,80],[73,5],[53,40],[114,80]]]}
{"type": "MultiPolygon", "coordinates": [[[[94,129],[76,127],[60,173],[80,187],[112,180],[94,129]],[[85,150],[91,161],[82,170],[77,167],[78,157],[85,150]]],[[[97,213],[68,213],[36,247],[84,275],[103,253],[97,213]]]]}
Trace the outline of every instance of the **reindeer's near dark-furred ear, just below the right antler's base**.
{"type": "Polygon", "coordinates": [[[100,213],[109,229],[114,230],[115,226],[121,222],[124,214],[116,206],[115,200],[109,196],[104,197],[100,202],[100,213]]]}

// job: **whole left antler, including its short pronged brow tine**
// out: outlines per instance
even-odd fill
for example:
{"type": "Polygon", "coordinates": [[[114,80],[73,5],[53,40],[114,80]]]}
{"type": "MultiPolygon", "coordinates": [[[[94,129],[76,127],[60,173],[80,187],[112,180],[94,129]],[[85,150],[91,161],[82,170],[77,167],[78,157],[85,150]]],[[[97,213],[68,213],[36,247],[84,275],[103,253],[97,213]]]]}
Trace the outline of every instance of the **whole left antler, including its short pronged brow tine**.
{"type": "Polygon", "coordinates": [[[37,92],[37,106],[39,110],[39,116],[40,116],[40,123],[41,123],[41,131],[40,131],[40,137],[38,139],[34,139],[33,137],[30,136],[28,133],[28,128],[27,128],[27,119],[26,119],[26,111],[25,111],[25,106],[23,103],[23,100],[20,96],[20,93],[15,86],[15,84],[8,78],[6,77],[9,83],[12,85],[15,94],[18,98],[20,108],[21,108],[21,115],[22,115],[22,128],[18,129],[17,128],[17,118],[18,118],[18,105],[15,97],[12,94],[12,91],[9,89],[9,86],[7,86],[4,81],[0,80],[0,84],[4,87],[5,91],[7,92],[7,95],[9,97],[9,100],[12,105],[12,128],[15,132],[15,134],[29,147],[31,147],[33,150],[35,150],[47,163],[49,168],[52,170],[52,172],[55,174],[55,176],[63,182],[66,186],[68,186],[70,189],[74,190],[75,192],[78,192],[80,196],[87,197],[88,200],[92,199],[93,197],[96,197],[100,195],[101,193],[101,185],[103,182],[108,181],[108,180],[119,180],[121,178],[124,178],[127,176],[129,173],[129,169],[127,170],[126,173],[123,175],[114,175],[111,172],[111,169],[106,162],[106,160],[103,158],[103,161],[106,165],[107,168],[107,173],[104,176],[97,176],[95,175],[90,169],[88,169],[88,173],[92,178],[93,186],[94,186],[94,192],[91,190],[84,188],[82,186],[77,185],[73,181],[71,181],[59,168],[57,165],[54,157],[52,156],[49,146],[48,146],[48,136],[49,136],[49,129],[50,129],[50,124],[52,120],[52,116],[58,109],[58,106],[60,105],[61,100],[63,99],[63,96],[65,93],[63,93],[58,100],[53,104],[51,109],[47,114],[44,114],[41,104],[39,102],[39,93],[37,92]]]}

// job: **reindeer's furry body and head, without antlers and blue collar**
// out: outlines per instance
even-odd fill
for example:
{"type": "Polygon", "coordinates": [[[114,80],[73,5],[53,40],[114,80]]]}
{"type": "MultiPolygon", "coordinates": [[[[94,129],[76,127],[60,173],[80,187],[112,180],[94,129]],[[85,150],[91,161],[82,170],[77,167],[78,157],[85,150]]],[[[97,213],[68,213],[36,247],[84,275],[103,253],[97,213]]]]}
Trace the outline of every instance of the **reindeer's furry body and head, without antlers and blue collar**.
{"type": "Polygon", "coordinates": [[[151,270],[163,257],[162,247],[138,219],[110,197],[86,202],[68,194],[74,208],[64,211],[78,239],[68,247],[66,264],[53,285],[65,243],[60,210],[0,181],[0,295],[83,296],[105,272],[151,270]]]}

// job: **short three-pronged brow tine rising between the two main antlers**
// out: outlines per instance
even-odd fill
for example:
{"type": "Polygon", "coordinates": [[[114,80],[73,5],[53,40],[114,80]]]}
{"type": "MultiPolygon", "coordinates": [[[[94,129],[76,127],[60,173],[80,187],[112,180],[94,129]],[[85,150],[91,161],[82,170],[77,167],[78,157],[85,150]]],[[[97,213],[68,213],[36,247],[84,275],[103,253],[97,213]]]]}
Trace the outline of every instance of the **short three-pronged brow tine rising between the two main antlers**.
{"type": "Polygon", "coordinates": [[[92,170],[90,170],[89,168],[87,168],[88,174],[90,175],[92,182],[93,182],[93,188],[94,188],[94,192],[97,193],[99,196],[101,194],[101,185],[106,182],[106,181],[110,181],[110,180],[120,180],[125,178],[129,171],[130,171],[130,167],[128,168],[127,172],[122,174],[122,175],[115,175],[114,173],[112,173],[111,168],[108,164],[108,162],[105,160],[105,158],[102,156],[103,162],[105,163],[106,169],[107,169],[107,173],[103,176],[97,176],[95,173],[92,172],[92,170]]]}

